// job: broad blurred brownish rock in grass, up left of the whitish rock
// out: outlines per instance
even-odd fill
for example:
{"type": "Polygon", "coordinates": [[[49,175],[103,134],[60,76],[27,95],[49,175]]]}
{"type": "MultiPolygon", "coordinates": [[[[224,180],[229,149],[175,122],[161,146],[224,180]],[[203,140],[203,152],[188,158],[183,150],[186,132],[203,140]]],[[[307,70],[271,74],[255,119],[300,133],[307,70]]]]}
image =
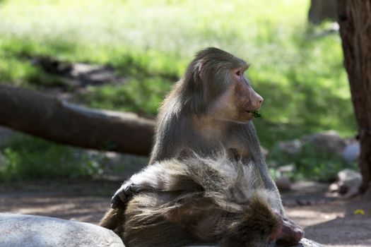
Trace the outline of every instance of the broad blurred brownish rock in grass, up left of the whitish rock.
{"type": "Polygon", "coordinates": [[[305,144],[312,145],[315,149],[322,152],[330,152],[341,156],[347,145],[345,139],[341,138],[336,131],[326,131],[307,136],[302,139],[305,144]]]}

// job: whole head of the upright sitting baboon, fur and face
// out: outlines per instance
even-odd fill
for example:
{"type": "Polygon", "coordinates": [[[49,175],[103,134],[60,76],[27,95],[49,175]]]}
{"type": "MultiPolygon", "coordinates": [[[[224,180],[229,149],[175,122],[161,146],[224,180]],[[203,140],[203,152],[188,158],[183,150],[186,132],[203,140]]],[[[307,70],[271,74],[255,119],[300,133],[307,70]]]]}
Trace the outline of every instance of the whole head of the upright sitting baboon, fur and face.
{"type": "Polygon", "coordinates": [[[182,95],[192,112],[216,119],[247,122],[260,109],[263,98],[245,76],[249,65],[217,48],[207,48],[189,64],[182,95]]]}

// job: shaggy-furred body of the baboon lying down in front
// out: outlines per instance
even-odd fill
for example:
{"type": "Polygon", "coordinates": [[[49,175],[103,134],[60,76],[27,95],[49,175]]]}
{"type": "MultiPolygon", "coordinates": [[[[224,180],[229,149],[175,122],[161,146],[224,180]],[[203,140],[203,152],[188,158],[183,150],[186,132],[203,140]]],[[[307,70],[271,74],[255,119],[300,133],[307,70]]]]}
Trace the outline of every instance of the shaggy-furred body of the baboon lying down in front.
{"type": "Polygon", "coordinates": [[[192,153],[146,167],[126,182],[126,208],[110,209],[100,225],[127,247],[269,246],[283,229],[280,200],[234,154],[192,153]]]}

